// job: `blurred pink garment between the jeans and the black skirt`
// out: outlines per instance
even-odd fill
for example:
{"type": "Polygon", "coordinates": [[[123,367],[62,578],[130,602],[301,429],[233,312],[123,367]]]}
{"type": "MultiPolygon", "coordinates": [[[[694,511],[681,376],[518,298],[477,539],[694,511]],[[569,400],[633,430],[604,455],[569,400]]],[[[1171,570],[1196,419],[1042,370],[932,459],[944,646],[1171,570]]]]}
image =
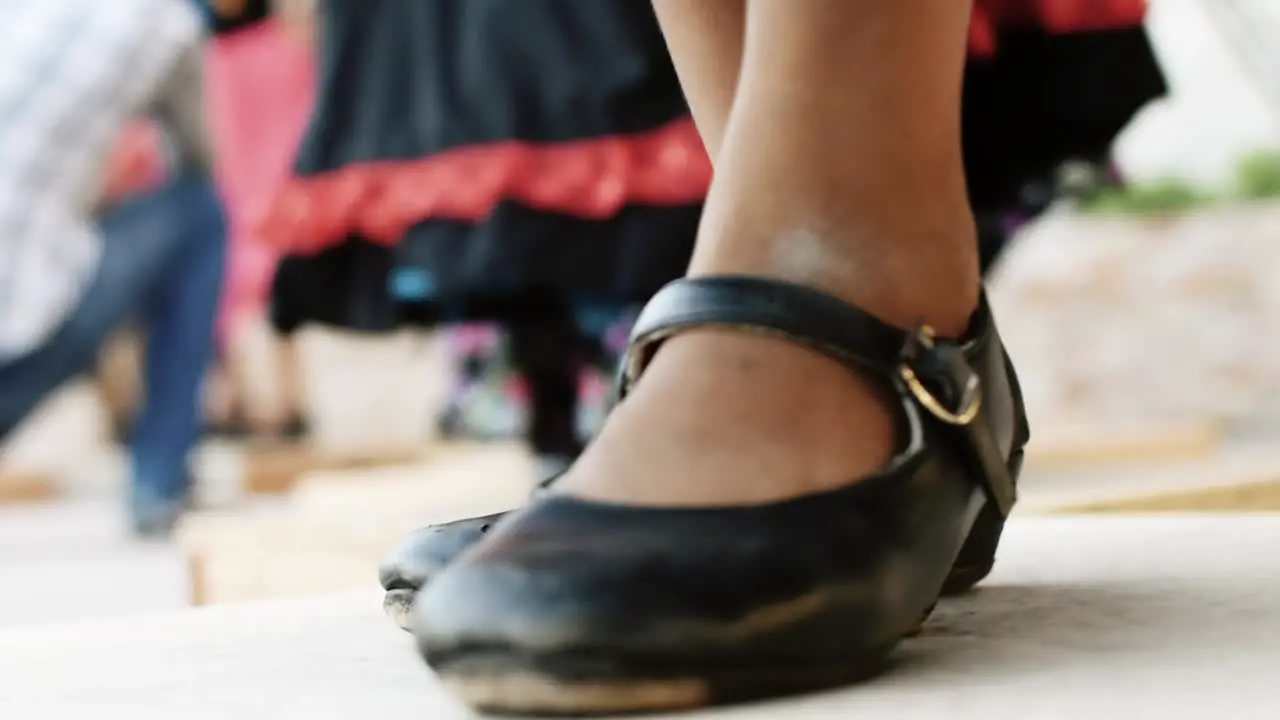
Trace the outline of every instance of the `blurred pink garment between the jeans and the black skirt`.
{"type": "Polygon", "coordinates": [[[311,54],[275,20],[218,37],[207,63],[210,126],[230,255],[218,323],[225,341],[261,313],[278,251],[253,236],[252,218],[292,170],[315,101],[311,54]]]}

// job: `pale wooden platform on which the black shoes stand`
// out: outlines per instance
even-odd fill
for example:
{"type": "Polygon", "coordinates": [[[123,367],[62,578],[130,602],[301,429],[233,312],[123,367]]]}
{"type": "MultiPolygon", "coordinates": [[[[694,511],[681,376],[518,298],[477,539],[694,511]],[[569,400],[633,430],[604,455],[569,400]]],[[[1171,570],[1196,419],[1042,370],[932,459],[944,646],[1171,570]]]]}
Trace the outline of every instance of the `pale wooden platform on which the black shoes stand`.
{"type": "MultiPolygon", "coordinates": [[[[864,685],[684,717],[1266,717],[1280,516],[1015,520],[995,575],[864,685]]],[[[93,588],[83,588],[92,602],[93,588]]],[[[38,592],[38,588],[31,588],[38,592]]],[[[0,630],[0,716],[470,717],[378,596],[0,630]]]]}

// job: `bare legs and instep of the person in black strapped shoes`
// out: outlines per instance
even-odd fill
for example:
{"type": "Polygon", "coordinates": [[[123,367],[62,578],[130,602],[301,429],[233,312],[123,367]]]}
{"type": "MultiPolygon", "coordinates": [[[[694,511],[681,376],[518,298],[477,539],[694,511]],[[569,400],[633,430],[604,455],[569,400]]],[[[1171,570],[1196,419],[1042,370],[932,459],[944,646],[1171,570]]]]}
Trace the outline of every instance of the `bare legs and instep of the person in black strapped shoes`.
{"type": "MultiPolygon", "coordinates": [[[[960,334],[979,288],[960,154],[970,3],[739,1],[745,35],[732,0],[655,5],[716,158],[691,274],[781,278],[960,334]]],[[[663,347],[557,488],[773,502],[879,468],[892,442],[878,392],[836,363],[692,333],[663,347]]]]}

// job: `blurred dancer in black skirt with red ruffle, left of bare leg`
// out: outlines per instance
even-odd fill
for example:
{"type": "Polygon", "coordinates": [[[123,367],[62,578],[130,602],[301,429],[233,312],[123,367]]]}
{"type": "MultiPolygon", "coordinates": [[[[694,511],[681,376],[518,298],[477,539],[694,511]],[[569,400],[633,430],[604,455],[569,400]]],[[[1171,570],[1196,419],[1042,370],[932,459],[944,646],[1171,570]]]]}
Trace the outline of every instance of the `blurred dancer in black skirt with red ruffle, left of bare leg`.
{"type": "Polygon", "coordinates": [[[562,469],[604,329],[684,272],[710,177],[648,0],[314,5],[282,8],[320,82],[262,227],[276,327],[497,324],[562,469]]]}

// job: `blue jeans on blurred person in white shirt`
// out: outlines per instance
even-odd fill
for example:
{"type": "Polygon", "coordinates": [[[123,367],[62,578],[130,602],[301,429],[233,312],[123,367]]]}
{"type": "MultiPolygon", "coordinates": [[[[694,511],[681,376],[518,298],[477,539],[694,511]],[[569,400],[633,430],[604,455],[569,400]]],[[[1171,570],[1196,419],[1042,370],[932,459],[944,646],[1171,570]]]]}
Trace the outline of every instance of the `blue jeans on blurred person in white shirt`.
{"type": "Polygon", "coordinates": [[[201,386],[214,355],[227,228],[204,178],[183,177],[109,211],[102,264],[83,300],[35,351],[0,364],[0,441],[45,397],[90,370],[125,320],[147,340],[131,447],[134,503],[180,502],[200,438],[201,386]]]}

